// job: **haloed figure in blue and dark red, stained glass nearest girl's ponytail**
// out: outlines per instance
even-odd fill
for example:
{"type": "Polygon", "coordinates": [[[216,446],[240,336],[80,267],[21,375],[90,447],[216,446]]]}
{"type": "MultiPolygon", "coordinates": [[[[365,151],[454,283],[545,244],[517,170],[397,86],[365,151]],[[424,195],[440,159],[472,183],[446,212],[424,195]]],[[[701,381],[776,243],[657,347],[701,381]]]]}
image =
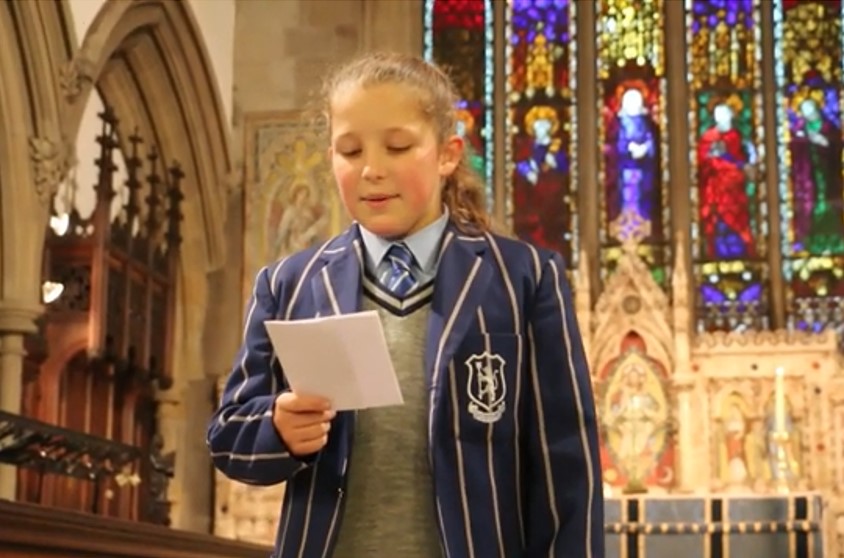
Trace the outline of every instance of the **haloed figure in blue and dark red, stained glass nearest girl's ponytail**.
{"type": "Polygon", "coordinates": [[[559,137],[557,112],[547,105],[533,106],[525,114],[523,129],[514,153],[513,201],[519,207],[516,229],[525,240],[565,254],[562,235],[552,236],[554,231],[564,230],[558,225],[569,213],[560,196],[569,162],[559,137]]]}

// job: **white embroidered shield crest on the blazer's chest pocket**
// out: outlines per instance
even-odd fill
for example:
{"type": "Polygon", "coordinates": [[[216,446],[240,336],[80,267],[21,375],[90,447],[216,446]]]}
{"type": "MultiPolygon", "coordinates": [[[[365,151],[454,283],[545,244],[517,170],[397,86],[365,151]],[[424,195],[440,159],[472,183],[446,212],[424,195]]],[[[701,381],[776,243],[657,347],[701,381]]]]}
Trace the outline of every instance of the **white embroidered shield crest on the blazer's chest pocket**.
{"type": "Polygon", "coordinates": [[[501,355],[483,352],[466,359],[469,413],[480,422],[493,423],[504,414],[507,384],[501,355]]]}

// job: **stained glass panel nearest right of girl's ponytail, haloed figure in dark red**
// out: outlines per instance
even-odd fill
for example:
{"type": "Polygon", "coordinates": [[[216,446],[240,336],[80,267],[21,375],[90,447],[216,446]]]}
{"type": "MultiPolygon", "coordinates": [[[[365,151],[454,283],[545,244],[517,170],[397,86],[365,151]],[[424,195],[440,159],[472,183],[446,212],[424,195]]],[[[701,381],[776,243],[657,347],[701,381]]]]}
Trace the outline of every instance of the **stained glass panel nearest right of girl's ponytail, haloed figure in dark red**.
{"type": "MultiPolygon", "coordinates": [[[[571,0],[512,0],[507,12],[508,161],[514,232],[574,266],[577,221],[574,8],[571,0]]],[[[509,213],[509,212],[508,212],[509,213]]]]}

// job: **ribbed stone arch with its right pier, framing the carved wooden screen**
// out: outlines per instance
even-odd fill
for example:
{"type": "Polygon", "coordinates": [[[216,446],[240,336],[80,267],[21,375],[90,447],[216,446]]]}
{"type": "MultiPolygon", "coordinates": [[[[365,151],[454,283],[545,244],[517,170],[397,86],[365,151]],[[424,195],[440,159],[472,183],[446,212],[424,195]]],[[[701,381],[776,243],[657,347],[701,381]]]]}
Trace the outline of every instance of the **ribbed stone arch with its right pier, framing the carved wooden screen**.
{"type": "Polygon", "coordinates": [[[206,327],[209,272],[226,259],[225,217],[234,184],[229,126],[190,2],[106,0],[63,76],[67,137],[76,138],[87,104],[99,94],[124,133],[137,127],[141,137],[155,141],[164,161],[179,161],[185,173],[174,383],[157,396],[157,419],[166,451],[180,456],[169,487],[171,520],[196,528],[210,508],[211,477],[191,466],[196,450],[190,440],[201,439],[206,417],[186,401],[209,367],[200,332],[206,327]]]}

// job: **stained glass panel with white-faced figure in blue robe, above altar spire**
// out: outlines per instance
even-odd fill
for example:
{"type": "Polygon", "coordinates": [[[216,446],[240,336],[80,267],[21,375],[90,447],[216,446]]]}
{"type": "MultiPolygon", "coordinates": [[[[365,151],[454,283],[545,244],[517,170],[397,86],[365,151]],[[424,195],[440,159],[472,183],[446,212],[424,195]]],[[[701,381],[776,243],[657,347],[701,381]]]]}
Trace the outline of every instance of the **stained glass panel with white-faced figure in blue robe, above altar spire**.
{"type": "Polygon", "coordinates": [[[663,284],[669,222],[662,1],[599,0],[596,24],[602,276],[621,254],[616,225],[645,221],[639,254],[663,284]]]}

